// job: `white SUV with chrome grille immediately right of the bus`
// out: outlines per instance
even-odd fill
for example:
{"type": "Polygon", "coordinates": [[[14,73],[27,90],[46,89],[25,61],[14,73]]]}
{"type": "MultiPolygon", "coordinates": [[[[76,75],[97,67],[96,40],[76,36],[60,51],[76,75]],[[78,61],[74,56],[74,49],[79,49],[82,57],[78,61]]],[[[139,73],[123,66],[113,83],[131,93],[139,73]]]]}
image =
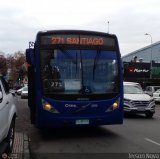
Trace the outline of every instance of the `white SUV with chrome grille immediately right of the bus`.
{"type": "Polygon", "coordinates": [[[138,83],[124,82],[124,112],[145,114],[152,118],[155,113],[153,97],[145,94],[138,83]]]}

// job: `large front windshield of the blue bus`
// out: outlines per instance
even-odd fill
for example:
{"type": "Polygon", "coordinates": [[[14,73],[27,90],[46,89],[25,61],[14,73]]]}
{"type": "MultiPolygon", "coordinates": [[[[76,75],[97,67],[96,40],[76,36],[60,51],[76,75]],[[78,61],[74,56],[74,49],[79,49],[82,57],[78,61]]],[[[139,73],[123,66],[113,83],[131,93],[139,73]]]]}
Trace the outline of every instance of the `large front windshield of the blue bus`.
{"type": "Polygon", "coordinates": [[[118,92],[115,51],[40,50],[43,94],[106,94],[118,92]]]}

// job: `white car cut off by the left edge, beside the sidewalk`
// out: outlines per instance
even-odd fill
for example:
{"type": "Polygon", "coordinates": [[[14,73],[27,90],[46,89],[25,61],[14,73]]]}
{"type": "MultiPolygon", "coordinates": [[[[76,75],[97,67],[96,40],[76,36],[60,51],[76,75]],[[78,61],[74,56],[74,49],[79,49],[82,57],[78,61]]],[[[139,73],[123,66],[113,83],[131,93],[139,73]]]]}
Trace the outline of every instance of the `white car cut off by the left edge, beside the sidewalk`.
{"type": "Polygon", "coordinates": [[[14,143],[16,105],[9,86],[0,76],[0,154],[11,153],[14,143]]]}

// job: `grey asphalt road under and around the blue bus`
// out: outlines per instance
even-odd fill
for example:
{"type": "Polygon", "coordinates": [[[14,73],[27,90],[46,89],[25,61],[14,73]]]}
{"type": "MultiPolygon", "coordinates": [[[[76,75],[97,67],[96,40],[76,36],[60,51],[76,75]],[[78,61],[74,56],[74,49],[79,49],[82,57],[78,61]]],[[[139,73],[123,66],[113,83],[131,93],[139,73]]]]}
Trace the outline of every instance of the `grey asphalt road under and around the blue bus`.
{"type": "Polygon", "coordinates": [[[104,159],[143,155],[139,157],[160,159],[160,105],[156,106],[152,119],[134,115],[125,117],[123,125],[46,131],[30,124],[26,99],[18,97],[17,108],[16,131],[29,136],[31,158],[104,159]]]}

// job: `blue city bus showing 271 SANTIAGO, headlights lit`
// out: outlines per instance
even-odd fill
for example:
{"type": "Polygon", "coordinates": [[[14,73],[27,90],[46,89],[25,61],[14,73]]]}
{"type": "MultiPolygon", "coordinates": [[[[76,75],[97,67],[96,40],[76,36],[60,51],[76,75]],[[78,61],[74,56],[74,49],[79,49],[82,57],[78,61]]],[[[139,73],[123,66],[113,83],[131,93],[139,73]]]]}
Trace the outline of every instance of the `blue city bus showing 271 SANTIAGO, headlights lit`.
{"type": "Polygon", "coordinates": [[[38,128],[123,123],[123,71],[115,35],[40,31],[26,59],[28,106],[38,128]]]}

